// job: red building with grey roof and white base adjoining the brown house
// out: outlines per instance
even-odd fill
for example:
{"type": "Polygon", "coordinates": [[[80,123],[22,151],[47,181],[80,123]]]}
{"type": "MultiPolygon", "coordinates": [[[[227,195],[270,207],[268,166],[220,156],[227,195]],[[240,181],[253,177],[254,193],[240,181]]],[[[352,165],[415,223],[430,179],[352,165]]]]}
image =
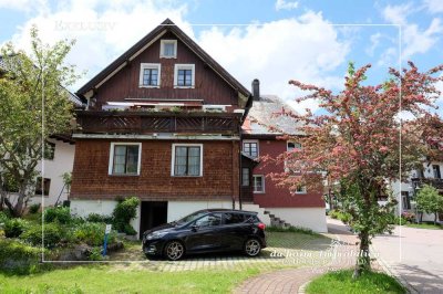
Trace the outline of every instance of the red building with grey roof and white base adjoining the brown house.
{"type": "MultiPolygon", "coordinates": [[[[276,116],[282,108],[289,109],[277,96],[260,96],[255,93],[253,107],[243,125],[241,199],[264,208],[276,224],[303,227],[317,232],[327,232],[326,208],[322,190],[307,190],[306,187],[291,195],[288,188],[277,187],[267,177],[270,172],[284,172],[285,165],[260,162],[260,156],[278,155],[291,148],[302,148],[298,141],[278,139],[285,134],[302,136],[298,124],[288,116],[276,116]],[[269,127],[281,130],[270,130],[269,127]]],[[[245,206],[245,204],[244,204],[245,206]]],[[[246,204],[247,207],[247,204],[246,204]]]]}

